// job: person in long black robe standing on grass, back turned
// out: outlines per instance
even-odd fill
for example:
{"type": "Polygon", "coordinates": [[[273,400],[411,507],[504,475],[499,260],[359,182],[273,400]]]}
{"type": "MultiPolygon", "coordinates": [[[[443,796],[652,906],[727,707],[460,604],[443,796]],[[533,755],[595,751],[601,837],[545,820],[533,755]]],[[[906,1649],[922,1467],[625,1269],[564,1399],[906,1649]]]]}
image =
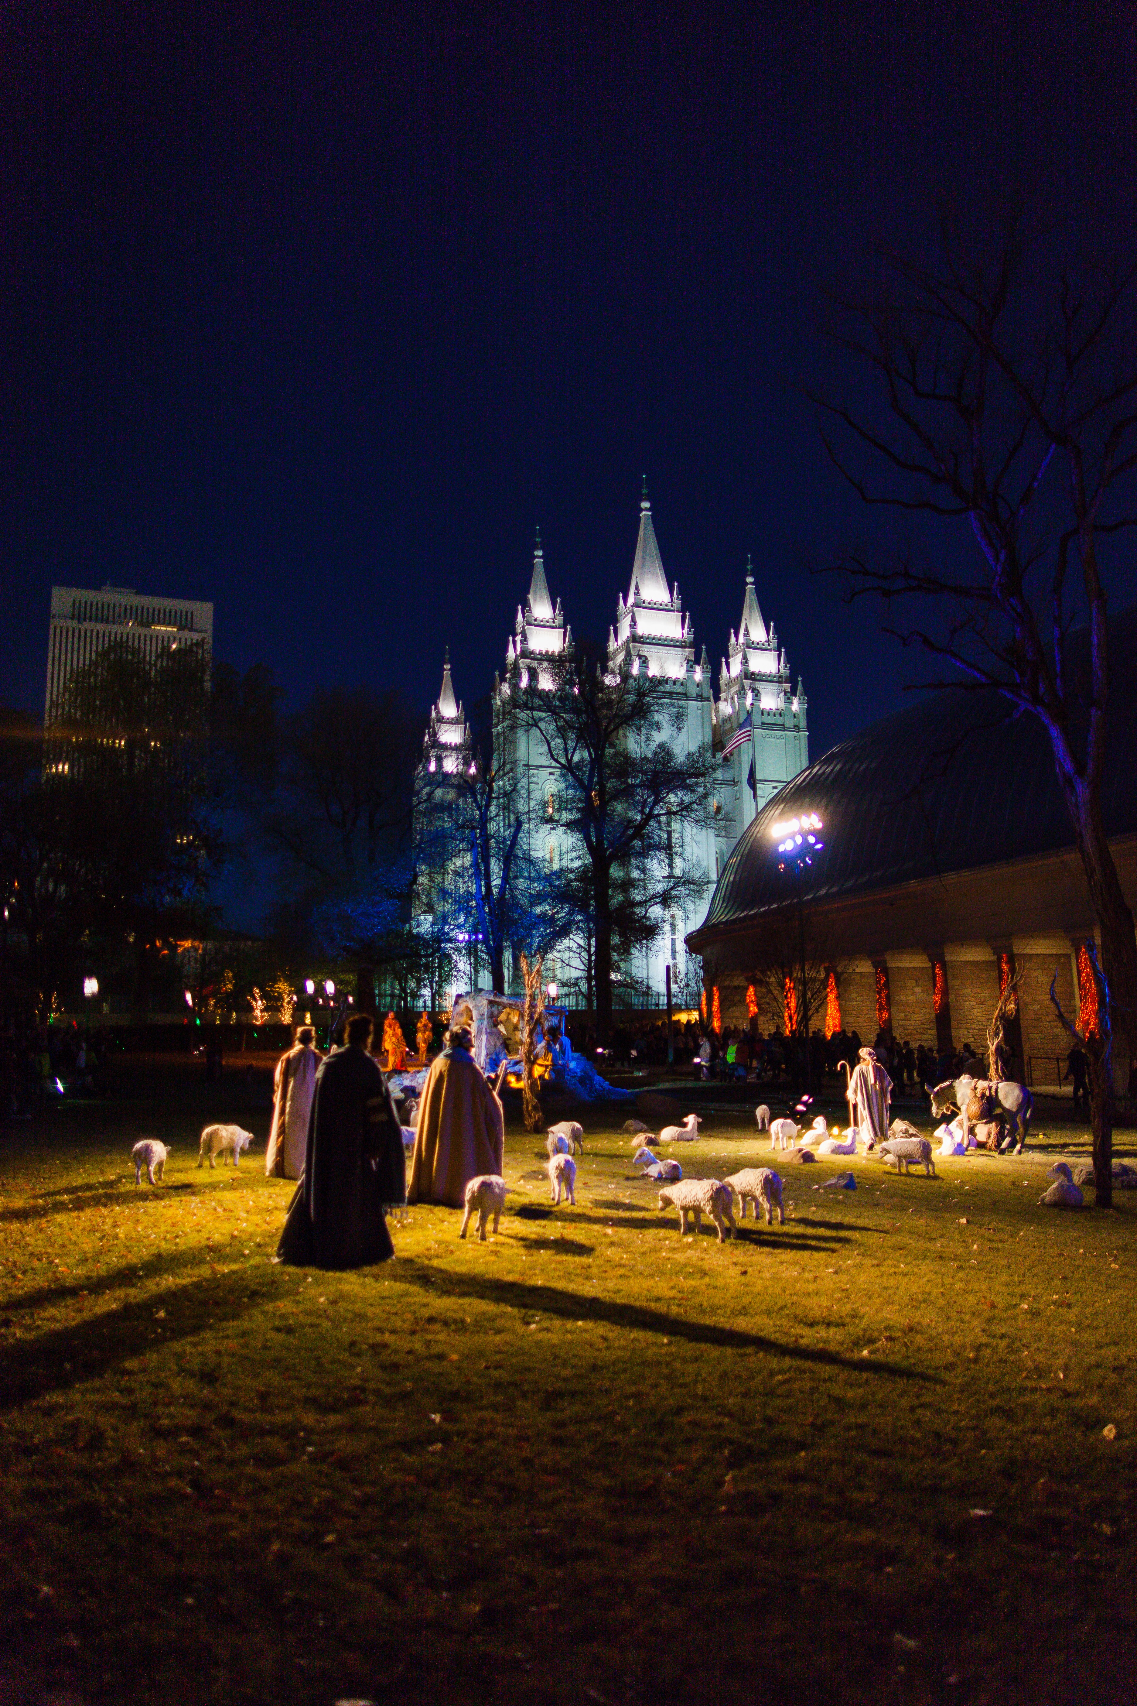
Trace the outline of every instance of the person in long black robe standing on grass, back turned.
{"type": "Polygon", "coordinates": [[[368,1054],[372,1018],[348,1020],[346,1047],[315,1075],[303,1177],[278,1259],[302,1268],[368,1268],[394,1256],[385,1210],[406,1201],[402,1131],[387,1080],[368,1054]]]}

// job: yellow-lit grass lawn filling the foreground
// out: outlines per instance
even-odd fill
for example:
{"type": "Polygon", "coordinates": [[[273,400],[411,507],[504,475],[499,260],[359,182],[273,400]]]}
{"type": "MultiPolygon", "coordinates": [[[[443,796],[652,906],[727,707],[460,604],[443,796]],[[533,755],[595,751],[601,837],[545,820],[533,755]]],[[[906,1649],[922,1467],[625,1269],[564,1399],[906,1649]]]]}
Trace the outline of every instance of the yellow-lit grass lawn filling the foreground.
{"type": "MultiPolygon", "coordinates": [[[[0,1701],[1134,1697],[1137,1201],[1036,1206],[1084,1131],[786,1167],[786,1227],[719,1245],[620,1107],[576,1208],[510,1131],[498,1239],[419,1208],[320,1274],[269,1261],[234,1094],[0,1138],[0,1701]]],[[[743,1112],[677,1153],[771,1160],[743,1112]]]]}

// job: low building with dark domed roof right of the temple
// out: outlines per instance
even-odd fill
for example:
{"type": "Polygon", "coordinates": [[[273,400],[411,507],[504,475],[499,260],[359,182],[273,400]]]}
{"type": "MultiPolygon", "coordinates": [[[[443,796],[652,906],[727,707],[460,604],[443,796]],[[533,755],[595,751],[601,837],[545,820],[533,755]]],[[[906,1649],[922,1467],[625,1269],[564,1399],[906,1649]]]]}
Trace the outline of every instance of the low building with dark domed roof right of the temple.
{"type": "MultiPolygon", "coordinates": [[[[1137,691],[1125,660],[1135,641],[1137,612],[1125,612],[1111,624],[1103,814],[1130,906],[1137,691]]],[[[1069,1037],[1050,981],[1076,1017],[1079,996],[1089,998],[1084,947],[1094,918],[1038,718],[1014,717],[994,689],[944,689],[844,740],[774,795],[689,937],[707,988],[719,988],[724,1022],[745,1024],[753,1007],[764,923],[796,906],[798,877],[779,868],[776,826],[806,812],[823,827],[801,897],[810,930],[840,962],[828,1029],[856,1029],[863,1041],[883,1029],[914,1046],[970,1041],[982,1054],[999,988],[1021,971],[1021,1066],[1053,1083],[1069,1037]]],[[[760,1015],[764,1029],[781,1018],[760,1015]]]]}

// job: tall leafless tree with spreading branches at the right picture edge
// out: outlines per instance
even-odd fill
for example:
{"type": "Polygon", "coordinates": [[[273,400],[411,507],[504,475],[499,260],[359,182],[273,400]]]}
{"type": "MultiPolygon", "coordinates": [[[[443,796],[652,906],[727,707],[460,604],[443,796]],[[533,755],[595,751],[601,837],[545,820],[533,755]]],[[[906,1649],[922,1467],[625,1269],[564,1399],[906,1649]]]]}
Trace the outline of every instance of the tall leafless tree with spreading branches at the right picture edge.
{"type": "MultiPolygon", "coordinates": [[[[931,551],[835,566],[851,599],[885,601],[888,633],[1045,727],[1128,1061],[1137,942],[1101,810],[1103,548],[1137,524],[1137,268],[1088,290],[1065,276],[1047,287],[1011,222],[990,266],[948,239],[943,266],[890,259],[888,280],[878,300],[844,305],[844,343],[880,382],[883,415],[818,396],[832,423],[825,445],[866,503],[958,522],[970,553],[953,553],[949,566],[931,551]]],[[[1099,1203],[1110,1198],[1108,1134],[1101,1153],[1099,1203]]]]}

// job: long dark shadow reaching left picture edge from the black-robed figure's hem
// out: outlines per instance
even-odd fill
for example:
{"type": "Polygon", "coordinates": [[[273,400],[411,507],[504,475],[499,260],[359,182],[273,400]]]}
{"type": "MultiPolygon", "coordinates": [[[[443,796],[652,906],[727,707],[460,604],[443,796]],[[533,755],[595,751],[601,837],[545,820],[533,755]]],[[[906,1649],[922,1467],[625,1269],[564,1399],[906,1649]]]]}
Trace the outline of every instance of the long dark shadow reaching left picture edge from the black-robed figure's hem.
{"type": "MultiPolygon", "coordinates": [[[[130,1271],[130,1283],[136,1269],[130,1271]]],[[[269,1297],[280,1297],[280,1281],[271,1273],[227,1274],[225,1288],[213,1274],[186,1285],[172,1285],[145,1300],[90,1320],[56,1327],[38,1339],[9,1344],[0,1351],[0,1409],[17,1409],[49,1392],[68,1392],[84,1380],[97,1380],[109,1370],[162,1351],[181,1339],[216,1334],[259,1309],[269,1297]],[[159,1320],[159,1309],[164,1319],[159,1320]]],[[[218,1349],[216,1343],[206,1343],[218,1349]]]]}

